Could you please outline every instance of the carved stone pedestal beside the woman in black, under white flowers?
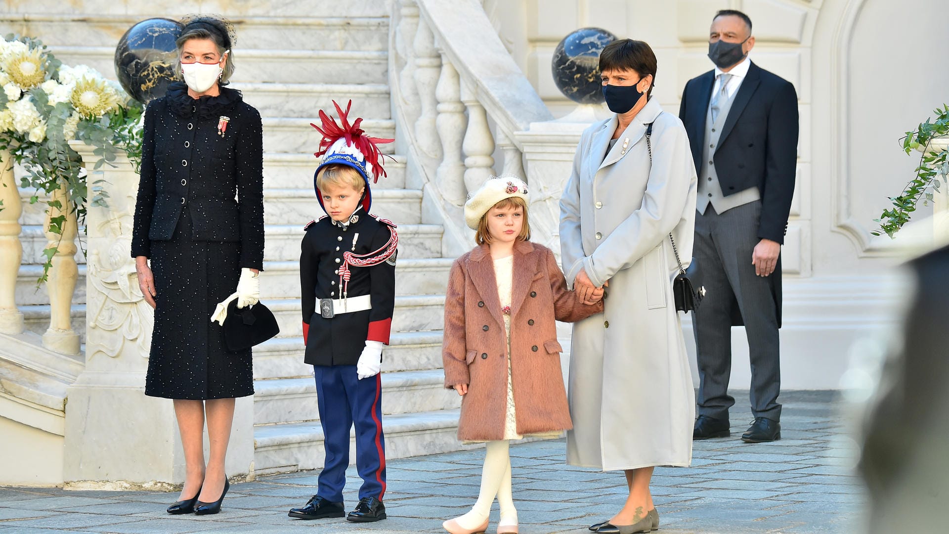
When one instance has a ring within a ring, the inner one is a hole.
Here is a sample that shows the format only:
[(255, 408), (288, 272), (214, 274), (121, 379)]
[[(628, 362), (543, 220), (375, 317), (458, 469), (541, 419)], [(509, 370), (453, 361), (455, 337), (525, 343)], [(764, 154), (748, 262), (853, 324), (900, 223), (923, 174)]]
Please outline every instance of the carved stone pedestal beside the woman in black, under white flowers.
[[(184, 481), (184, 456), (172, 401), (144, 394), (154, 315), (129, 256), (139, 177), (123, 157), (93, 171), (92, 147), (70, 145), (83, 156), (89, 189), (102, 181), (109, 198), (107, 207), (89, 205), (85, 220), (86, 359), (66, 391), (65, 484), (170, 488)], [(228, 475), (241, 480), (253, 473), (252, 403), (237, 399), (228, 449)]]

